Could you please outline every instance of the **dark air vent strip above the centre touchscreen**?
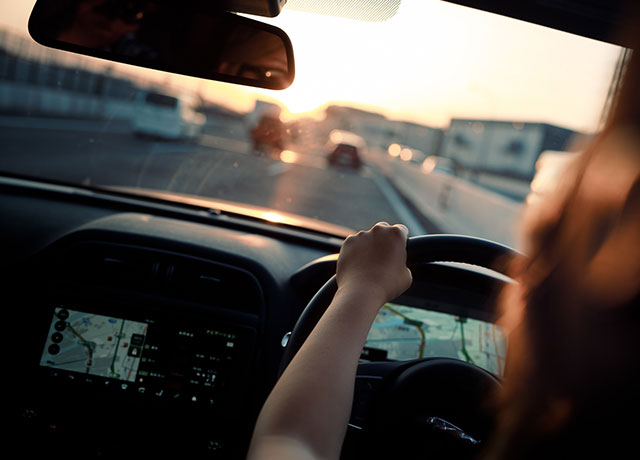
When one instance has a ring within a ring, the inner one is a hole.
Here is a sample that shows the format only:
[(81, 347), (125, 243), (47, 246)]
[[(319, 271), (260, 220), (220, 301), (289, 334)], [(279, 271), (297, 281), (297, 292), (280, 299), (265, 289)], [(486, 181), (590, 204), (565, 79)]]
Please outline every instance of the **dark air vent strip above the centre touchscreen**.
[(161, 295), (259, 314), (260, 286), (249, 272), (183, 254), (102, 242), (78, 243), (61, 257), (58, 276), (85, 285)]

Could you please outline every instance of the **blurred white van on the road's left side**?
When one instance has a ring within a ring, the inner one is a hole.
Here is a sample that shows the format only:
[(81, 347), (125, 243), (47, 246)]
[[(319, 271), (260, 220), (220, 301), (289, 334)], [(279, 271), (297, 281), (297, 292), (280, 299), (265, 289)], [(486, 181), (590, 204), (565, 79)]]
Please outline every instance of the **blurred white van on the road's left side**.
[(132, 120), (134, 134), (162, 139), (195, 139), (206, 117), (186, 99), (156, 91), (140, 91)]

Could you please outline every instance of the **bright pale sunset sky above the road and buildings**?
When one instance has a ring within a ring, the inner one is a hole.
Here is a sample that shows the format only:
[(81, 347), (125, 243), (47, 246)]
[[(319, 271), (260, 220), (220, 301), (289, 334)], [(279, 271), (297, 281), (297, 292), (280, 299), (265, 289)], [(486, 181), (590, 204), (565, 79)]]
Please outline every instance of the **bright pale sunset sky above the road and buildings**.
[[(26, 31), (34, 0), (2, 0), (0, 25)], [(452, 117), (542, 121), (593, 132), (620, 48), (437, 0), (403, 0), (384, 22), (285, 10), (258, 18), (290, 36), (296, 80), (283, 91), (187, 77), (174, 81), (249, 110), (256, 97), (285, 115), (329, 103), (446, 127)]]

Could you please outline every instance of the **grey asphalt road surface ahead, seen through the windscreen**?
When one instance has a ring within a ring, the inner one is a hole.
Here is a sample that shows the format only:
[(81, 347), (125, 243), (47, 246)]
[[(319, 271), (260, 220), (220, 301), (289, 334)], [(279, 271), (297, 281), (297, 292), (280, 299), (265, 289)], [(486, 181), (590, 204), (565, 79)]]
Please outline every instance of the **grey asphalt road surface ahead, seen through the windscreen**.
[(373, 167), (336, 169), (323, 152), (259, 156), (245, 133), (240, 120), (220, 119), (198, 141), (161, 141), (134, 136), (124, 122), (0, 115), (0, 171), (211, 197), (353, 229), (404, 222), (421, 232)]

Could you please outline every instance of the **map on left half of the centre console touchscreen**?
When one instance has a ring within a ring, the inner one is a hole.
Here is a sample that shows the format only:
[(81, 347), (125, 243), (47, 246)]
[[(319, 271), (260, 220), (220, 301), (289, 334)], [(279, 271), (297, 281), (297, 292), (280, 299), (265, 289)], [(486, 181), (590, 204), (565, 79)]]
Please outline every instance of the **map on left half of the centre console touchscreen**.
[(148, 324), (56, 308), (40, 365), (133, 381)]

